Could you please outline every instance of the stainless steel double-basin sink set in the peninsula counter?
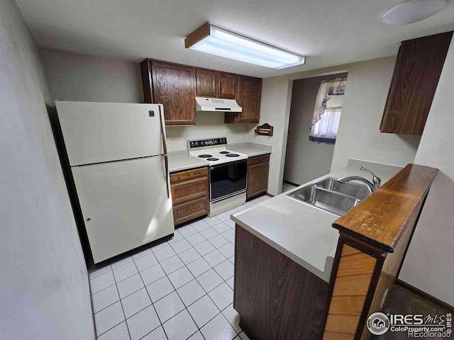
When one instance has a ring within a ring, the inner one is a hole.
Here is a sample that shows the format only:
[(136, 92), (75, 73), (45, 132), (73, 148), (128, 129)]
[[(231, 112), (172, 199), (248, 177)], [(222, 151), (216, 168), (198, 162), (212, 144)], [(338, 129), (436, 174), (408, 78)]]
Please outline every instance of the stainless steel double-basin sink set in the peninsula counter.
[(369, 195), (369, 188), (365, 184), (339, 183), (333, 177), (287, 194), (289, 198), (338, 216), (348, 212)]

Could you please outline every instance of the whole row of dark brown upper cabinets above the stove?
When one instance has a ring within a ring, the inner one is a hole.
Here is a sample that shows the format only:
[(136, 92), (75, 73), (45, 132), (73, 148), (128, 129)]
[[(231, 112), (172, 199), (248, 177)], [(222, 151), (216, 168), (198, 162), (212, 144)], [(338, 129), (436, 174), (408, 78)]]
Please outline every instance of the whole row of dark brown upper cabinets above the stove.
[(260, 78), (150, 59), (140, 71), (145, 103), (164, 105), (165, 125), (195, 125), (196, 96), (236, 99), (243, 112), (226, 113), (225, 123), (259, 122)]

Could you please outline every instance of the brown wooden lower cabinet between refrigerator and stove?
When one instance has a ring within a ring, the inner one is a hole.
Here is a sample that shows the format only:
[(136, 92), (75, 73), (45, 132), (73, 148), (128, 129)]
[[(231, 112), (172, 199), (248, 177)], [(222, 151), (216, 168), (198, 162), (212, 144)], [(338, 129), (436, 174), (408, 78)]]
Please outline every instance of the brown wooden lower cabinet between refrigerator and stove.
[(209, 212), (208, 167), (170, 174), (173, 220), (175, 225), (194, 220)]

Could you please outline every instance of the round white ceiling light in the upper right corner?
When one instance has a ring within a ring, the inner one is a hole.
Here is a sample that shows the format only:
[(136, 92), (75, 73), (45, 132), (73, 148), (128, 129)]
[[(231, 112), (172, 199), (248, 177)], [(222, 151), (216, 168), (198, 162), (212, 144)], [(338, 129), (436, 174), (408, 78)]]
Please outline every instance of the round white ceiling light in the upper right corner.
[(448, 0), (407, 0), (384, 13), (383, 22), (391, 25), (416, 23), (441, 11)]

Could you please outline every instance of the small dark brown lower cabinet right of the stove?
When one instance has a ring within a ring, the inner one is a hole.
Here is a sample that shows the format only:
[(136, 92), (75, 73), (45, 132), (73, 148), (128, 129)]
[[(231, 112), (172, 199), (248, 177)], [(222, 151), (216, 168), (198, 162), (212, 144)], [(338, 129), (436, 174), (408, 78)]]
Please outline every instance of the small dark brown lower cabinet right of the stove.
[(270, 154), (250, 157), (248, 163), (248, 192), (246, 198), (258, 196), (268, 190)]

